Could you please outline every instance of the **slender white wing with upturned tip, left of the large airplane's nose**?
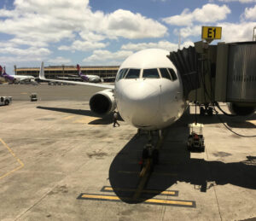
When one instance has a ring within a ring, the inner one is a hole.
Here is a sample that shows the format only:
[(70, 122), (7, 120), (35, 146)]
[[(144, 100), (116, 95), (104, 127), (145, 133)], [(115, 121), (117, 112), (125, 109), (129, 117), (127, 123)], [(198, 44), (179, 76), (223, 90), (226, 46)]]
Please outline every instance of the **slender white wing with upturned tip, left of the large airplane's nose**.
[(45, 76), (44, 76), (44, 62), (42, 62), (42, 65), (41, 65), (41, 69), (40, 69), (40, 73), (39, 73), (39, 79), (47, 80), (47, 81), (52, 81), (52, 82), (60, 82), (60, 83), (68, 83), (68, 84), (80, 84), (80, 85), (88, 85), (88, 86), (92, 86), (92, 87), (114, 89), (114, 85), (113, 84), (94, 84), (94, 83), (81, 82), (81, 81), (45, 79)]

